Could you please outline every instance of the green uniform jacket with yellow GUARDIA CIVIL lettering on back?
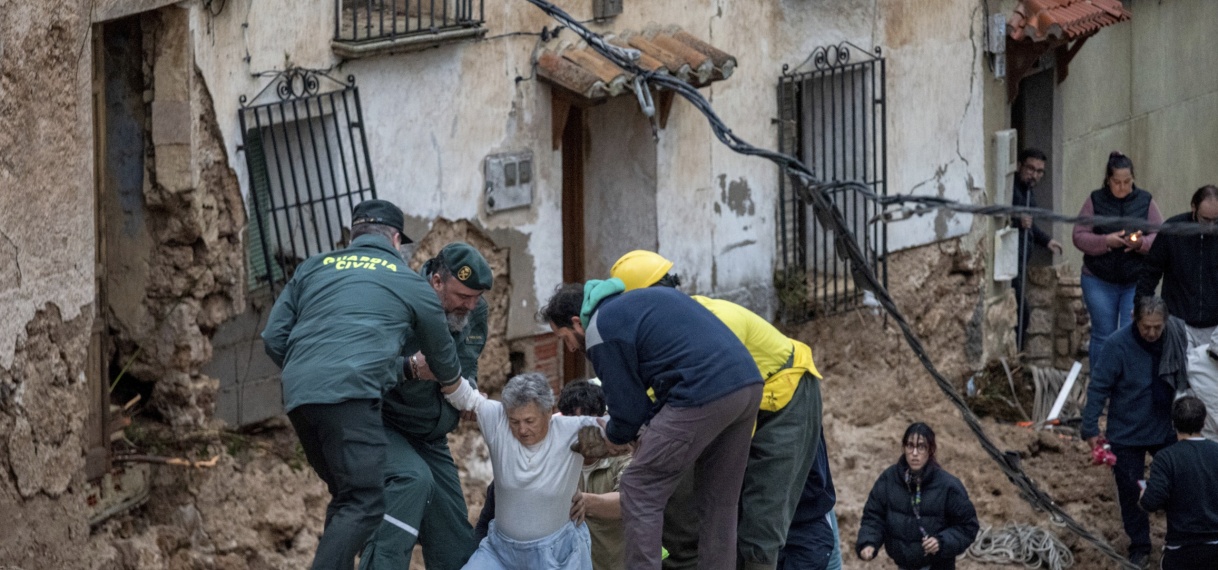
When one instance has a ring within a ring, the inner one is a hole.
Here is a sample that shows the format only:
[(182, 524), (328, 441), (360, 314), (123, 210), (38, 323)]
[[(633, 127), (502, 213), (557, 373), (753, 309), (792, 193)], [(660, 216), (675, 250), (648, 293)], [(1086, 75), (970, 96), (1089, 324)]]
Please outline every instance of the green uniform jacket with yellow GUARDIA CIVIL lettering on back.
[(379, 235), (362, 235), (296, 268), (262, 340), (284, 370), (285, 412), (380, 398), (402, 376), (408, 340), (421, 347), (437, 378), (460, 378), (435, 291)]

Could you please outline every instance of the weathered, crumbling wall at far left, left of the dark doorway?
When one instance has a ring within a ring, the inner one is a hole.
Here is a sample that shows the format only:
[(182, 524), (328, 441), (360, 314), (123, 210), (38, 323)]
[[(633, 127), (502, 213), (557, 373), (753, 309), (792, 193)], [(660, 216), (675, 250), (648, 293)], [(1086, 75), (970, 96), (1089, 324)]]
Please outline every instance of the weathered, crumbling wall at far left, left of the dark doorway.
[(88, 2), (0, 0), (0, 566), (71, 568), (93, 324)]

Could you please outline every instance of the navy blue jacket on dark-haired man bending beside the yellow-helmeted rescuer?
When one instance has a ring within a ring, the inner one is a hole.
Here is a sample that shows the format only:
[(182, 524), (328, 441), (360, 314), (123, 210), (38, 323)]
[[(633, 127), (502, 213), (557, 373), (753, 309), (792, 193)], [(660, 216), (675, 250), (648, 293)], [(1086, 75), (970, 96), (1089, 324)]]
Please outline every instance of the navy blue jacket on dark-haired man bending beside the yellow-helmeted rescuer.
[[(663, 406), (694, 407), (761, 384), (749, 351), (688, 295), (648, 287), (600, 301), (585, 330), (614, 443), (635, 440)], [(655, 392), (655, 402), (647, 390)]]

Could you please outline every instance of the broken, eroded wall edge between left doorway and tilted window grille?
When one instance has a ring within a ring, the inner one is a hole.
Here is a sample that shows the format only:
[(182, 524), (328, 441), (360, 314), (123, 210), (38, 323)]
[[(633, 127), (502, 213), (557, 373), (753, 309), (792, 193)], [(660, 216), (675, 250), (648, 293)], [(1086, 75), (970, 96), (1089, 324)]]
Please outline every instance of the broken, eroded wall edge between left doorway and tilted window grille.
[[(116, 319), (116, 358), (128, 374), (155, 382), (151, 406), (171, 425), (211, 419), (218, 382), (200, 371), (212, 357), (209, 335), (245, 306), (241, 231), (245, 207), (228, 164), (207, 85), (194, 65), (188, 10), (143, 16), (146, 151), (145, 219), (151, 251), (136, 311)], [(122, 279), (122, 276), (117, 276)], [(112, 311), (124, 309), (111, 306)]]

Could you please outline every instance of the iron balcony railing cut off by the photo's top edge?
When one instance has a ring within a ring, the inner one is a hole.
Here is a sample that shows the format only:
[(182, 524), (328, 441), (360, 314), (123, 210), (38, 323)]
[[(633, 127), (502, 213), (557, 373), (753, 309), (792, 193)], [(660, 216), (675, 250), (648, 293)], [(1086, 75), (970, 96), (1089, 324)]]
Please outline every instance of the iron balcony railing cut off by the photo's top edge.
[(335, 0), (334, 40), (361, 44), (481, 28), (485, 0)]

